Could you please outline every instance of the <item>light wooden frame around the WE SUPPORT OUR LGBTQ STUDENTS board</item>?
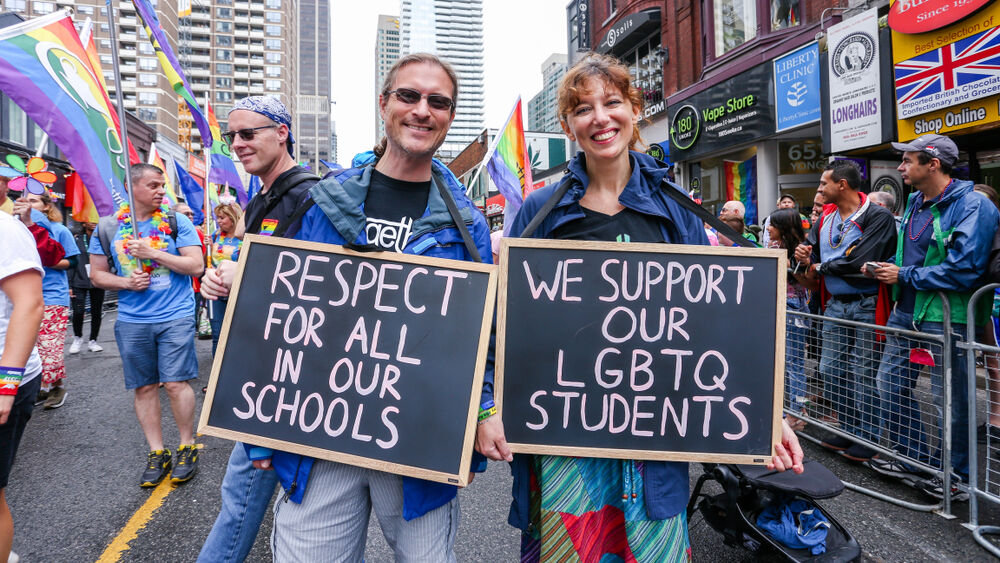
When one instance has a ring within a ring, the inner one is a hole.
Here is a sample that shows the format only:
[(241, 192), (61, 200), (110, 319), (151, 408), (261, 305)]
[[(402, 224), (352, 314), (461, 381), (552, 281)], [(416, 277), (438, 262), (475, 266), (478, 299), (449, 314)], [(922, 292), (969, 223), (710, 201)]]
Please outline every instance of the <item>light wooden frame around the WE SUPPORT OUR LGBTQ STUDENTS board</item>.
[(785, 302), (786, 302), (786, 272), (788, 257), (784, 250), (764, 248), (738, 248), (721, 246), (675, 245), (655, 243), (618, 243), (603, 241), (570, 241), (555, 239), (504, 238), (500, 246), (500, 287), (497, 301), (497, 343), (496, 372), (494, 383), (494, 401), (497, 406), (497, 416), (503, 417), (504, 403), (504, 363), (507, 348), (507, 290), (510, 271), (510, 249), (544, 248), (565, 249), (574, 251), (602, 251), (621, 253), (656, 253), (656, 254), (686, 254), (705, 256), (747, 256), (773, 259), (777, 269), (777, 287), (775, 307), (775, 362), (774, 362), (774, 393), (772, 397), (771, 416), (771, 451), (768, 455), (761, 454), (728, 454), (702, 453), (660, 450), (635, 450), (618, 448), (570, 447), (563, 445), (527, 444), (508, 442), (511, 451), (527, 454), (547, 454), (573, 457), (599, 457), (614, 459), (641, 459), (656, 461), (687, 461), (710, 463), (737, 463), (765, 465), (770, 463), (774, 455), (775, 445), (781, 443), (782, 403), (784, 399), (785, 375)]

